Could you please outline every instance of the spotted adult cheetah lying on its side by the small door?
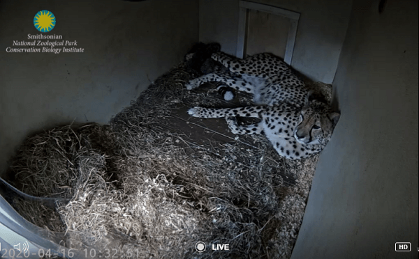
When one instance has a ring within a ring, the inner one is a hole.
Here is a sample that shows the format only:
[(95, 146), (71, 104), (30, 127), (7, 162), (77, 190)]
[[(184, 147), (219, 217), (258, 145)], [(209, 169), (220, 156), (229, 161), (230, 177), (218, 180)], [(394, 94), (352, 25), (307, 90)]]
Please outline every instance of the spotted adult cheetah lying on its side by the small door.
[[(210, 73), (186, 84), (191, 90), (217, 81), (253, 95), (256, 106), (228, 109), (193, 107), (188, 113), (198, 118), (226, 118), (233, 134), (265, 134), (275, 150), (287, 159), (303, 159), (321, 152), (332, 135), (340, 113), (297, 77), (284, 61), (272, 54), (240, 59), (223, 52), (213, 53), (214, 61), (228, 73)], [(239, 125), (237, 117), (259, 118), (260, 123)]]

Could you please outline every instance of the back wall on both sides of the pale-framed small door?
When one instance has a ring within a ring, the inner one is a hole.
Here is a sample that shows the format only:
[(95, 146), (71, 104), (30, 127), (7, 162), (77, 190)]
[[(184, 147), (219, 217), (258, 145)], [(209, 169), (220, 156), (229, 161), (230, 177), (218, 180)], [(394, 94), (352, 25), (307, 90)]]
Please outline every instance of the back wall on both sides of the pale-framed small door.
[[(352, 0), (252, 0), (300, 13), (291, 65), (305, 76), (331, 84), (344, 42)], [(200, 41), (221, 43), (235, 55), (239, 0), (200, 0)]]

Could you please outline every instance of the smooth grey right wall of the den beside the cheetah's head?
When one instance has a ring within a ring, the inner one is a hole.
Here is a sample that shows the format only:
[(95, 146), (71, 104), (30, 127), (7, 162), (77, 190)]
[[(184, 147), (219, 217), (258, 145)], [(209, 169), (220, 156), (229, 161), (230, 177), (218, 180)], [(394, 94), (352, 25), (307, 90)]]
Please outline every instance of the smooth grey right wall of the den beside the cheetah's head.
[[(418, 258), (418, 1), (356, 0), (292, 259)], [(395, 242), (411, 242), (396, 253)]]

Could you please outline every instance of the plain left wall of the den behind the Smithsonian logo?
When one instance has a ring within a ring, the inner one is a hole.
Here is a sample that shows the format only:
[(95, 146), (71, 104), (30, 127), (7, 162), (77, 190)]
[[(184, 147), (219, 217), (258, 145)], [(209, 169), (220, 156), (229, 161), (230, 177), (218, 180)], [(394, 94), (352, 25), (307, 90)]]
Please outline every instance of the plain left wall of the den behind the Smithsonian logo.
[[(7, 53), (41, 34), (39, 10), (57, 24), (45, 35), (84, 53)], [(0, 171), (27, 134), (75, 122), (107, 123), (198, 41), (198, 1), (0, 2)]]

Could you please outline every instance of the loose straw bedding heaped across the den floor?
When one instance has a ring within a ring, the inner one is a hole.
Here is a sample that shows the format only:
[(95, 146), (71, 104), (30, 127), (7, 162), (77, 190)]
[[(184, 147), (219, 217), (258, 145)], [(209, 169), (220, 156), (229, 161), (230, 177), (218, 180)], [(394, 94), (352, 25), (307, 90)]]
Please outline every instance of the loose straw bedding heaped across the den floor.
[[(71, 201), (53, 210), (14, 198), (13, 206), (38, 226), (78, 234), (68, 237), (72, 247), (117, 249), (121, 258), (289, 258), (317, 157), (286, 161), (263, 136), (253, 137), (258, 149), (238, 141), (211, 148), (168, 132), (177, 104), (221, 102), (186, 91), (188, 80), (182, 63), (109, 125), (30, 136), (10, 164), (10, 182), (33, 196)], [(205, 252), (196, 251), (198, 241)]]

